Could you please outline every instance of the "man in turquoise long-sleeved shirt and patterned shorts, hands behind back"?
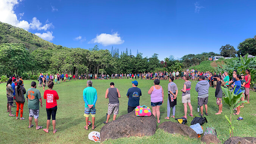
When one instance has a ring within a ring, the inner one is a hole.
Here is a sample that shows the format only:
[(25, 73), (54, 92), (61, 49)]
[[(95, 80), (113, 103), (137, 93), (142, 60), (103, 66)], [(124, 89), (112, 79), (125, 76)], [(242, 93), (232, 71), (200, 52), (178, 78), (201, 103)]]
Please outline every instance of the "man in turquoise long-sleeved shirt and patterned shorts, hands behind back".
[(84, 129), (88, 130), (88, 121), (89, 121), (89, 114), (91, 113), (92, 115), (92, 130), (95, 129), (95, 114), (96, 114), (96, 109), (95, 109), (95, 103), (97, 101), (97, 90), (92, 87), (92, 81), (89, 80), (87, 81), (87, 88), (84, 88), (83, 91), (83, 98), (85, 102), (84, 106), (84, 116), (86, 125), (84, 126)]

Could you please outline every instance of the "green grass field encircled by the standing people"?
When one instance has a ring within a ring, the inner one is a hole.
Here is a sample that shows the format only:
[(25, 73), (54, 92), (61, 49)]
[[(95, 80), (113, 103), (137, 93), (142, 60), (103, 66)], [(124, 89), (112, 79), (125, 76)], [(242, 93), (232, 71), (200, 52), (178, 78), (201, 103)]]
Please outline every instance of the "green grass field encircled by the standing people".
[[(127, 102), (128, 98), (126, 93), (128, 88), (130, 88), (132, 80), (118, 79), (118, 80), (93, 80), (93, 87), (97, 89), (98, 100), (96, 102), (96, 120), (95, 125), (97, 126), (95, 131), (100, 132), (101, 127), (103, 127), (103, 121), (106, 121), (106, 113), (108, 110), (108, 99), (105, 99), (105, 91), (109, 88), (109, 83), (114, 82), (116, 88), (119, 88), (121, 93), (120, 109), (119, 115), (124, 115), (127, 113)], [(150, 95), (147, 93), (149, 88), (153, 85), (151, 80), (138, 80), (138, 87), (142, 91), (142, 96), (140, 97), (140, 105), (147, 105), (150, 107)], [(181, 92), (180, 89), (183, 87), (183, 80), (174, 81), (179, 89), (176, 105), (176, 118), (182, 117), (184, 115), (183, 104), (181, 103)], [(26, 90), (30, 88), (31, 81), (24, 81)], [(160, 85), (164, 88), (164, 103), (160, 107), (161, 112), (161, 123), (164, 121), (176, 122), (175, 119), (170, 118), (170, 120), (164, 119), (167, 115), (167, 84), (168, 81), (161, 81)], [(38, 82), (37, 82), (38, 85)], [(191, 89), (191, 103), (193, 106), (193, 115), (198, 116), (197, 112), (197, 92), (195, 91), (196, 82), (192, 82)], [(56, 129), (57, 133), (53, 134), (52, 125), (50, 125), (49, 133), (45, 133), (42, 129), (36, 130), (34, 126), (32, 129), (28, 129), (28, 108), (27, 101), (24, 105), (23, 117), (25, 120), (16, 120), (16, 117), (9, 117), (6, 113), (6, 84), (0, 84), (0, 143), (86, 143), (92, 144), (93, 141), (88, 139), (88, 134), (92, 131), (91, 127), (89, 130), (84, 129), (85, 117), (84, 114), (84, 101), (83, 101), (83, 89), (86, 87), (86, 81), (70, 81), (62, 82), (61, 84), (55, 84), (53, 90), (56, 90), (59, 94), (58, 111), (56, 115)], [(42, 88), (37, 88), (41, 91), (43, 95), (44, 91)], [(223, 103), (223, 113), (221, 115), (214, 115), (218, 107), (215, 100), (215, 89), (209, 88), (209, 101), (208, 101), (208, 113), (206, 116), (208, 123), (203, 124), (203, 129), (206, 127), (214, 127), (219, 135), (219, 140), (222, 143), (229, 138), (228, 133), (228, 122), (224, 115), (229, 116), (229, 107)], [(251, 115), (256, 113), (256, 93), (250, 91), (250, 104), (245, 104), (245, 107), (241, 110), (240, 116), (244, 118), (242, 121), (237, 121), (239, 116), (232, 116), (232, 122), (235, 127), (234, 136), (246, 137), (253, 136), (256, 137), (256, 117)], [(151, 107), (150, 107), (151, 108)], [(12, 108), (12, 114), (15, 115), (16, 108)], [(188, 110), (189, 113), (189, 110)], [(172, 115), (172, 112), (171, 112)], [(188, 126), (193, 118), (188, 117)], [(45, 100), (43, 99), (43, 107), (40, 108), (39, 113), (39, 125), (46, 128), (46, 110), (45, 110)], [(89, 118), (91, 121), (91, 116)], [(112, 116), (109, 121), (112, 121)], [(34, 124), (34, 120), (33, 123)], [(159, 125), (159, 124), (158, 124)], [(157, 129), (156, 134), (153, 136), (145, 137), (130, 137), (130, 138), (119, 138), (115, 140), (105, 141), (105, 144), (119, 144), (119, 143), (200, 143), (200, 139), (190, 139), (189, 137), (184, 137), (178, 134), (165, 133), (163, 130)]]

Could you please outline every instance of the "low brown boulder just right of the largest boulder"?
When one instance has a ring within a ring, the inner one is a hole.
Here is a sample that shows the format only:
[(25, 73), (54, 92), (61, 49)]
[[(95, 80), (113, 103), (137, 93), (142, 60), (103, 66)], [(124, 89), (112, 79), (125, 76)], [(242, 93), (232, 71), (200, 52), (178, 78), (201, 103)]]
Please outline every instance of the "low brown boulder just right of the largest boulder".
[(197, 138), (197, 133), (193, 129), (177, 122), (165, 121), (158, 127), (168, 133), (180, 133), (183, 136), (189, 136), (189, 138)]

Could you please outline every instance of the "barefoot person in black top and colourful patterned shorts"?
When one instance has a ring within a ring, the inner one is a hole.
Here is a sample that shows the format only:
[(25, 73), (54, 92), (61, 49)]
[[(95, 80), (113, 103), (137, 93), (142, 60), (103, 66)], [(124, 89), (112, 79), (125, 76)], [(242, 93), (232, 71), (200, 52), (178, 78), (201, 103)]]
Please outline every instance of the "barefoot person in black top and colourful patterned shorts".
[(219, 106), (219, 111), (215, 115), (220, 115), (222, 113), (222, 89), (221, 89), (221, 76), (217, 76), (217, 86), (215, 90), (216, 104)]

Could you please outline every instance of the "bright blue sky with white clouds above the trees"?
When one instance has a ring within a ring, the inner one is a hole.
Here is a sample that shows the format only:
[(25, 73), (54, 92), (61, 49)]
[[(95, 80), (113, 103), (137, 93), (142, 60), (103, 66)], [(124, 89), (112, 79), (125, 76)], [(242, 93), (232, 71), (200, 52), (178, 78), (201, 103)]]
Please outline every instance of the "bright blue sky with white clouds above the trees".
[[(1, 6), (2, 5), (2, 6)], [(255, 0), (1, 0), (0, 21), (69, 48), (143, 57), (213, 51), (256, 35)]]

